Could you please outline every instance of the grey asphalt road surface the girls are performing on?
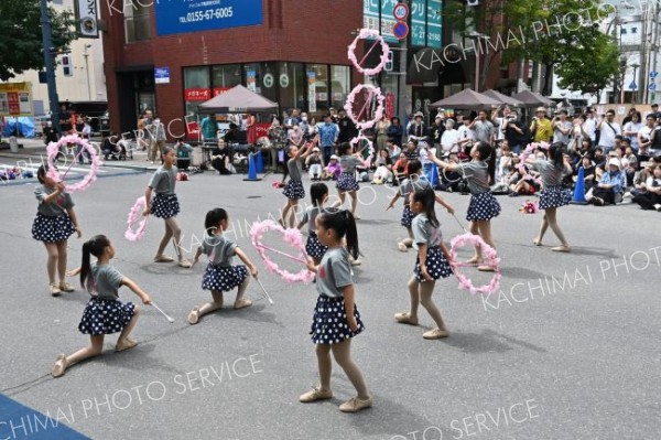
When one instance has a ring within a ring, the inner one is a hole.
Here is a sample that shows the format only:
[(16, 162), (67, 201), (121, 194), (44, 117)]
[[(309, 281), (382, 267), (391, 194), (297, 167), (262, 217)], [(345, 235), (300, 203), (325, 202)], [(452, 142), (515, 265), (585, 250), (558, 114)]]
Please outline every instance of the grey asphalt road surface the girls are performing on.
[[(115, 353), (116, 335), (107, 336), (102, 356), (71, 367), (57, 379), (50, 376), (55, 356), (89, 342), (77, 330), (88, 294), (78, 288), (50, 297), (46, 254), (31, 237), (34, 183), (0, 186), (0, 439), (661, 436), (657, 212), (630, 204), (563, 207), (560, 222), (573, 248), (564, 255), (550, 250), (557, 244), (551, 234), (545, 246), (532, 245), (541, 214), (519, 213), (524, 198), (499, 197), (503, 210), (492, 230), (501, 258), (500, 290), (472, 296), (458, 289), (454, 277), (437, 282), (434, 299), (451, 336), (425, 341), (422, 333), (432, 320), (424, 310), (418, 328), (393, 320), (408, 308), (407, 281), (415, 259), (412, 251), (402, 254), (395, 247), (395, 238), (405, 234), (399, 225), (401, 205), (386, 212), (392, 189), (362, 184), (358, 229), (365, 256), (354, 271), (366, 331), (354, 340), (353, 353), (375, 404), (347, 415), (337, 407), (354, 389), (337, 365), (333, 399), (297, 401), (317, 377), (308, 335), (315, 288), (286, 285), (267, 272), (250, 244), (249, 225), (269, 213), (277, 217), (284, 203), (281, 190), (271, 187), (280, 176), (245, 182), (242, 175), (206, 172), (177, 183), (182, 247), (193, 253), (205, 213), (225, 207), (230, 236), (258, 265), (274, 300), (270, 305), (260, 299), (261, 290), (252, 282), (247, 294), (256, 300), (253, 307), (234, 311), (234, 292), (226, 293), (225, 310), (192, 326), (187, 313), (210, 299), (201, 289), (205, 265), (183, 269), (152, 262), (163, 233), (156, 218), (150, 218), (142, 240), (123, 238), (128, 212), (150, 178), (129, 171), (99, 179), (73, 195), (84, 238), (107, 234), (117, 248), (112, 264), (175, 322), (147, 308), (133, 333), (136, 348)], [(468, 196), (443, 196), (465, 225)], [(437, 213), (447, 242), (464, 233), (444, 210)], [(79, 265), (83, 242), (69, 239), (69, 268)], [(460, 256), (467, 258), (469, 249)], [(476, 283), (490, 277), (466, 271)], [(127, 288), (120, 299), (139, 301)], [(56, 422), (47, 422), (48, 415)]]

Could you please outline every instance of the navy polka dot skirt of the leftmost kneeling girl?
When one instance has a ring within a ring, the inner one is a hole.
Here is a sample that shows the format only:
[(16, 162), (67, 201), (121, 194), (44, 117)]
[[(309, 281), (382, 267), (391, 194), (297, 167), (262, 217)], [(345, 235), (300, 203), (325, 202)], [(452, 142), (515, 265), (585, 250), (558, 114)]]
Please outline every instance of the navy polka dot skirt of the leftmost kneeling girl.
[(121, 332), (134, 314), (132, 302), (93, 298), (85, 307), (78, 330), (90, 335)]

